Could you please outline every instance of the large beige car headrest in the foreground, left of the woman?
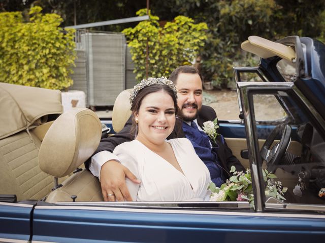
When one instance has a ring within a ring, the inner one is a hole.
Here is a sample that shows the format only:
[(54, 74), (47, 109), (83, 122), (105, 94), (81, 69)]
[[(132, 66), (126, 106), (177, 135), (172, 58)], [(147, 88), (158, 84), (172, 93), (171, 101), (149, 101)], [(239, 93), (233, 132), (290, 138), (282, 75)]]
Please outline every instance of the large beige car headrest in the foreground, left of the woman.
[(42, 171), (64, 177), (77, 169), (98, 147), (101, 121), (87, 108), (73, 108), (61, 114), (45, 134), (39, 152)]

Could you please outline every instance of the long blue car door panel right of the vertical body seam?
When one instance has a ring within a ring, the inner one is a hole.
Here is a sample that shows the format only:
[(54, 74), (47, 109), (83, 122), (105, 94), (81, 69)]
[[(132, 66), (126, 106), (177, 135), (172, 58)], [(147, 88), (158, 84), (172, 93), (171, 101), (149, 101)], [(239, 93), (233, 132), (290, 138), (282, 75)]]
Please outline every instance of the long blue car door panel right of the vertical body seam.
[(33, 228), (33, 240), (53, 242), (320, 242), (325, 221), (317, 215), (40, 206)]

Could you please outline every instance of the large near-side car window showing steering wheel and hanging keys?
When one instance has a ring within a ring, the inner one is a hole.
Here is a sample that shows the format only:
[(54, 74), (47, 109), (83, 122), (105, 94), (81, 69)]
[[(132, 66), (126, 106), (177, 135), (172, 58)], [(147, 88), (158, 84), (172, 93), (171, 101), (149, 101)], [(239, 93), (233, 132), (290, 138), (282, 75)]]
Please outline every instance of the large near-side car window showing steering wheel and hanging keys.
[[(264, 98), (259, 97), (258, 99), (268, 100), (266, 95), (260, 96)], [(275, 101), (278, 100), (275, 99)], [(281, 100), (279, 99), (279, 101)], [(262, 129), (261, 126), (256, 127), (260, 153), (263, 157), (263, 168), (267, 169), (268, 173), (272, 172), (277, 176), (277, 178), (272, 178), (273, 176), (271, 176), (266, 181), (266, 184), (268, 184), (265, 191), (266, 199), (269, 196), (273, 196), (283, 200), (284, 203), (324, 205), (324, 136), (313, 125), (313, 121), (308, 118), (312, 117), (311, 114), (307, 113), (308, 111), (295, 103), (294, 99), (291, 99), (290, 103), (291, 105), (287, 106), (293, 113), (305, 113), (304, 117), (306, 118), (301, 120), (295, 119), (294, 124), (279, 123), (278, 127), (271, 125), (264, 126), (265, 129)], [(254, 104), (254, 110), (257, 107)], [(294, 110), (296, 111), (294, 112)], [(258, 115), (258, 112), (256, 112), (256, 119)], [(283, 136), (281, 137), (286, 125), (289, 126), (288, 131), (291, 130), (286, 137), (287, 139)], [(272, 142), (270, 135), (275, 129), (277, 129), (277, 133), (275, 133), (277, 135)], [(270, 141), (272, 143), (268, 147)], [(282, 155), (281, 151), (283, 151)], [(286, 187), (287, 190), (281, 194), (280, 190), (283, 190), (283, 187)]]

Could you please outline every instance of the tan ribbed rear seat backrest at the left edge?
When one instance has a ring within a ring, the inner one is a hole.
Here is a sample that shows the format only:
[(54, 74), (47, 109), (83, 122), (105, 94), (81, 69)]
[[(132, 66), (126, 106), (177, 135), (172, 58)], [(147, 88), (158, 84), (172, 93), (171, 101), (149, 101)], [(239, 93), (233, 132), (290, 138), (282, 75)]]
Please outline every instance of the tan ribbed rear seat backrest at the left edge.
[(40, 144), (26, 130), (0, 140), (0, 194), (16, 194), (20, 201), (41, 199), (51, 191), (53, 177), (39, 167)]

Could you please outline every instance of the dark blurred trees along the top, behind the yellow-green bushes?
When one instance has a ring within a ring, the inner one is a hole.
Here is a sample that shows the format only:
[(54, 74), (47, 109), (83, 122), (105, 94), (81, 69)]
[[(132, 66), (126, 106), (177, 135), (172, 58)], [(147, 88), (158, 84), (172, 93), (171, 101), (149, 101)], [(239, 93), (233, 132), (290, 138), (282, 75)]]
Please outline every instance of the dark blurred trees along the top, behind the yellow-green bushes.
[[(146, 0), (1, 0), (0, 11), (22, 11), (40, 6), (43, 13), (61, 16), (61, 26), (92, 23), (136, 16), (146, 8)], [(195, 24), (205, 22), (207, 38), (200, 41), (197, 62), (206, 81), (228, 87), (233, 65), (256, 65), (255, 59), (240, 49), (250, 35), (275, 41), (288, 35), (299, 35), (325, 41), (325, 1), (314, 0), (166, 0), (150, 1), (151, 14), (159, 25), (183, 15)], [(122, 31), (138, 23), (97, 27), (95, 30)], [(150, 50), (149, 50), (150, 52)], [(168, 76), (166, 74), (166, 76)]]

